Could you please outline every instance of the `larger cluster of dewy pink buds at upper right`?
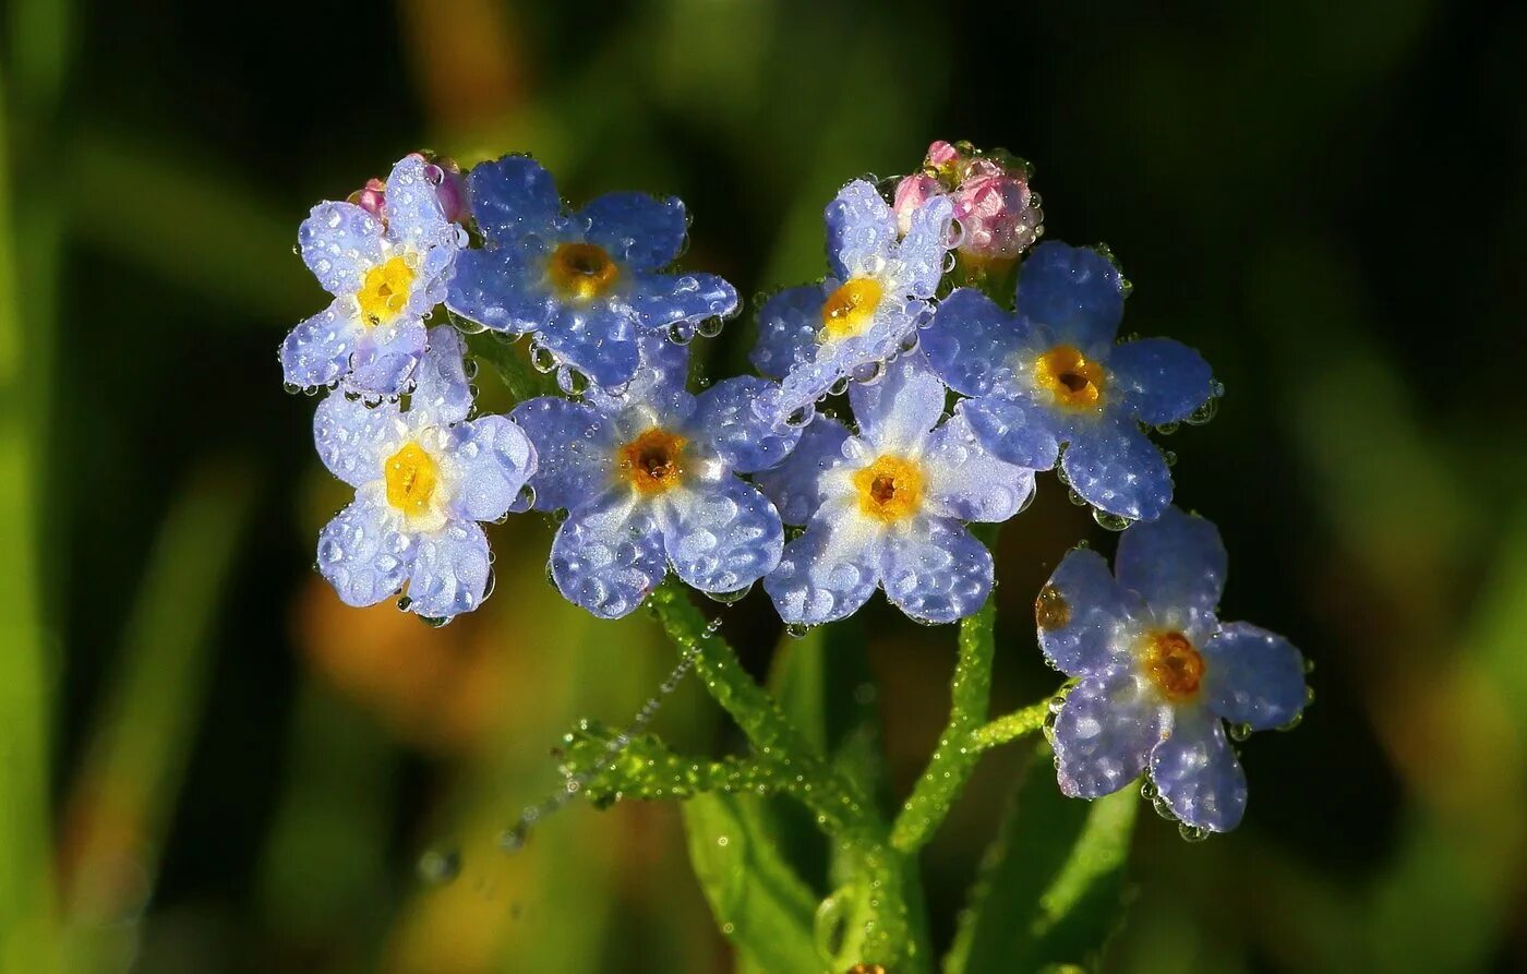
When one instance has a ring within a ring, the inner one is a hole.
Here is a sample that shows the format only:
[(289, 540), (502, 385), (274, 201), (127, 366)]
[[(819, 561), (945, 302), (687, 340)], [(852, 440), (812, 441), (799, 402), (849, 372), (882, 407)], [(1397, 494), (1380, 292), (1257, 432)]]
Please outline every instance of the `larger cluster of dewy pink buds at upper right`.
[(1029, 191), (1029, 165), (970, 142), (935, 142), (921, 173), (896, 185), (896, 220), (906, 234), (912, 214), (931, 197), (948, 195), (964, 234), (960, 260), (973, 269), (1006, 267), (1044, 232), (1040, 197)]

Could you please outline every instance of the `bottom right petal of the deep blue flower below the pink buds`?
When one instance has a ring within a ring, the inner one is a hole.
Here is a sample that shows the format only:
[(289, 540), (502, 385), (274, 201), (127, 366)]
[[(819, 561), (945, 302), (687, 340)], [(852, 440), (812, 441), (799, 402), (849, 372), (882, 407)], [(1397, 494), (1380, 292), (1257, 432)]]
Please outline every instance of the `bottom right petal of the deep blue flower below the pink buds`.
[(1171, 502), (1167, 458), (1133, 421), (1102, 417), (1078, 426), (1061, 466), (1083, 499), (1130, 521), (1153, 521)]

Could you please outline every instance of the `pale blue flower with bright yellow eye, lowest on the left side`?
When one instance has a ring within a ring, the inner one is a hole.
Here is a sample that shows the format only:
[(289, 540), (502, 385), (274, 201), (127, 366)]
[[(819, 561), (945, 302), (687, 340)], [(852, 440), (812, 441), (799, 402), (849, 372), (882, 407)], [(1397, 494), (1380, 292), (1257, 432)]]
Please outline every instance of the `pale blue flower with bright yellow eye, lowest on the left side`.
[(318, 455), (356, 489), (318, 539), (318, 568), (348, 605), (382, 601), (406, 583), (408, 609), (450, 618), (487, 597), (492, 559), (476, 522), (510, 510), (536, 450), (505, 417), (466, 421), (461, 356), (455, 330), (434, 328), (406, 411), (339, 392), (318, 406)]

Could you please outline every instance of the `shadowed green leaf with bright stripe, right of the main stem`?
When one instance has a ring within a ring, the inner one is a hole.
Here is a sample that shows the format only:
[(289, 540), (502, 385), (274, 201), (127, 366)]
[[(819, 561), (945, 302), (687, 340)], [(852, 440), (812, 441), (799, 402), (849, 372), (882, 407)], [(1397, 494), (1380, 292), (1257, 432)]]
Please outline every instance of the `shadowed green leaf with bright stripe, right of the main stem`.
[(1040, 748), (982, 860), (947, 974), (1093, 969), (1122, 921), (1139, 803), (1133, 788), (1090, 803), (1061, 795)]

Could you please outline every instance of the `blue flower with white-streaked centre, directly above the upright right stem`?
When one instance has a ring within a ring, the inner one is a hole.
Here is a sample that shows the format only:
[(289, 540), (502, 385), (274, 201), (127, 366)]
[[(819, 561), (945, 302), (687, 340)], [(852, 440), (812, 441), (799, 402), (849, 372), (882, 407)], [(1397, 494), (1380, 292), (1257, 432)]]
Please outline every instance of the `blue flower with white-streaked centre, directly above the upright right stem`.
[(806, 525), (764, 580), (786, 623), (851, 615), (876, 586), (925, 623), (986, 600), (991, 553), (962, 522), (1019, 513), (1034, 472), (991, 456), (964, 414), (944, 420), (944, 398), (921, 353), (906, 353), (849, 388), (858, 435), (818, 415), (783, 464), (757, 475), (785, 519)]

